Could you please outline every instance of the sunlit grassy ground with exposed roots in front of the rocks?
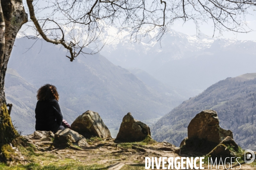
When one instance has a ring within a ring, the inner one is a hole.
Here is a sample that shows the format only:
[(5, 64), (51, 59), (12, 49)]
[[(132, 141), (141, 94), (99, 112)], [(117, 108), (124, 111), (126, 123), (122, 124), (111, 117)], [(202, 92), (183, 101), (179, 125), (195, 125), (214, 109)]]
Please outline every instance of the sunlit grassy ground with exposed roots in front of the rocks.
[[(24, 160), (18, 163), (0, 163), (0, 170), (108, 170), (111, 164), (118, 162), (125, 164), (121, 170), (145, 170), (145, 157), (178, 156), (170, 151), (174, 150), (172, 144), (155, 142), (151, 138), (127, 143), (115, 143), (100, 138), (87, 141), (90, 144), (82, 148), (53, 148), (49, 143), (41, 145), (40, 149), (32, 144), (19, 147)], [(207, 162), (205, 163), (205, 169), (208, 169)], [(256, 161), (250, 165), (243, 164), (241, 169), (256, 170)]]

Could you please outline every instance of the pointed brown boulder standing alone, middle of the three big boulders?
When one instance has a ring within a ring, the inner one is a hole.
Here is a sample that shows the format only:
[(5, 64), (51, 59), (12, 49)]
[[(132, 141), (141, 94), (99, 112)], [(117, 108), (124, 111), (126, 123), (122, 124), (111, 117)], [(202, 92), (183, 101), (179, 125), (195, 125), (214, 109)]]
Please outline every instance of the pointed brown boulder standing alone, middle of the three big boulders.
[(122, 119), (116, 141), (137, 142), (143, 141), (147, 136), (151, 136), (150, 128), (143, 122), (140, 122), (127, 113)]

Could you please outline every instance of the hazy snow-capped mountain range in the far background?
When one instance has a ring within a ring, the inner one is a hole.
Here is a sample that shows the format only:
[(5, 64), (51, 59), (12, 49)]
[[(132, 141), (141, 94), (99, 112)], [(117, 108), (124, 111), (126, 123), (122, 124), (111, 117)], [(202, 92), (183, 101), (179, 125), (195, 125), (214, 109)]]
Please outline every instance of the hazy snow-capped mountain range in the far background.
[(109, 43), (102, 55), (115, 65), (142, 69), (167, 85), (187, 90), (187, 97), (221, 79), (256, 72), (256, 41), (189, 36), (175, 30), (157, 41), (154, 30), (135, 42), (131, 33), (110, 26), (105, 32)]

